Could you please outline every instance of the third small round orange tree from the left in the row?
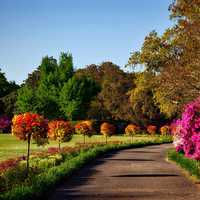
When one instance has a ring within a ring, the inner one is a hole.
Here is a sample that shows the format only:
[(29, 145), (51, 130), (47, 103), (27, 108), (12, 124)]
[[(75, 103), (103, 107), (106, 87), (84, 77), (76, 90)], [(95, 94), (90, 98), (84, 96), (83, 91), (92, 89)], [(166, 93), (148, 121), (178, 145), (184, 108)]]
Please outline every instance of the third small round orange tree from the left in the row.
[(77, 134), (83, 135), (83, 142), (85, 144), (85, 136), (92, 136), (92, 122), (82, 121), (75, 125), (75, 132)]

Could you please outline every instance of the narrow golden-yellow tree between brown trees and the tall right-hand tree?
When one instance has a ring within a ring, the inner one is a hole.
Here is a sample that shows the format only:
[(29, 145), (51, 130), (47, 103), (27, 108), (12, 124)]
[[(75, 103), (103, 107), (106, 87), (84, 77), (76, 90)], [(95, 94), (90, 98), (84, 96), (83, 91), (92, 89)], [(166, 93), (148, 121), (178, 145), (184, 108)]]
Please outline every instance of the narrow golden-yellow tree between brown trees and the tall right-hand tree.
[(154, 103), (154, 78), (151, 72), (138, 73), (135, 79), (136, 87), (130, 91), (130, 101), (133, 107), (133, 119), (136, 124), (146, 126), (149, 123), (163, 123), (164, 116)]

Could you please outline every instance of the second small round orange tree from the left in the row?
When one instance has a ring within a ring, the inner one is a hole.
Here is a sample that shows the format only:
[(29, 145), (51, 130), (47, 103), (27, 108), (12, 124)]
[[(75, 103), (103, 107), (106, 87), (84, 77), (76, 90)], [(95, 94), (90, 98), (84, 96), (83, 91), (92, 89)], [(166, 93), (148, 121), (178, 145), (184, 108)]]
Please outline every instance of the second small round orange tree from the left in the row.
[(48, 137), (58, 141), (60, 149), (61, 142), (68, 142), (72, 139), (74, 128), (70, 122), (64, 120), (53, 120), (48, 123)]

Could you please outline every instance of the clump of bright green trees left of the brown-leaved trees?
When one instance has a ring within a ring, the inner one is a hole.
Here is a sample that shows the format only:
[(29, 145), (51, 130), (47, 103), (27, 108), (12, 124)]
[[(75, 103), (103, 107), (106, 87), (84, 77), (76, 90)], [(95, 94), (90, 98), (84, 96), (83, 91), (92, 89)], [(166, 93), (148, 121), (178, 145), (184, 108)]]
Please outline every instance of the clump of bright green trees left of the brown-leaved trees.
[(71, 54), (61, 53), (59, 63), (44, 57), (18, 92), (17, 112), (37, 112), (49, 119), (83, 117), (99, 87), (90, 78), (73, 75)]

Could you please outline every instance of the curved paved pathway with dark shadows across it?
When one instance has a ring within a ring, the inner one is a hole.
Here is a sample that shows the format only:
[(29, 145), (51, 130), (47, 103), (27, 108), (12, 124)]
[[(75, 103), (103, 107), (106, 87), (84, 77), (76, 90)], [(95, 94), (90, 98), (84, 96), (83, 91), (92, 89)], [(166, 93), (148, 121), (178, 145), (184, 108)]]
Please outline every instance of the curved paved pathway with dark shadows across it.
[(165, 161), (170, 144), (106, 154), (63, 181), (50, 200), (200, 200), (198, 184)]

